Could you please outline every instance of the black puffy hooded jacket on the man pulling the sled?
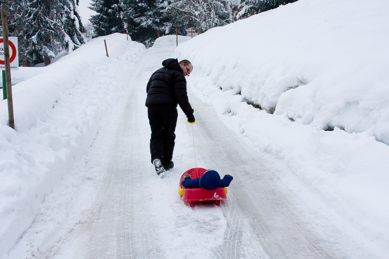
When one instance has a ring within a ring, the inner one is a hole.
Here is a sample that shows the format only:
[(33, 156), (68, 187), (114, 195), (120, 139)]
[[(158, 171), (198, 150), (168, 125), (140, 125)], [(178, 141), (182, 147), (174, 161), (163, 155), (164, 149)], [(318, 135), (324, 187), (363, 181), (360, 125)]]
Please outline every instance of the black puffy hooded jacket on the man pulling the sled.
[(167, 59), (162, 62), (164, 67), (155, 71), (147, 83), (146, 106), (171, 104), (181, 109), (186, 115), (193, 114), (186, 93), (184, 71), (177, 59)]

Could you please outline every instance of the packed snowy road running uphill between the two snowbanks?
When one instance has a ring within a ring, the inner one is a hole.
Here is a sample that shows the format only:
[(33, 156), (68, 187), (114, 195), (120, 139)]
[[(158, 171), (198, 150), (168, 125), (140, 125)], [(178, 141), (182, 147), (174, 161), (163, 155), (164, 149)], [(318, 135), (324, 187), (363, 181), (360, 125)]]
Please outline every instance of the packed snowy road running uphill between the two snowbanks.
[(129, 82), (90, 215), (53, 258), (331, 258), (318, 245), (323, 241), (296, 217), (261, 155), (242, 145), (210, 107), (192, 96), (197, 165), (235, 177), (228, 199), (220, 207), (209, 203), (194, 209), (180, 201), (178, 179), (195, 167), (192, 126), (183, 113), (176, 167), (165, 179), (154, 176), (144, 86), (159, 67), (148, 65), (168, 56), (165, 49), (149, 49), (142, 59), (139, 73)]

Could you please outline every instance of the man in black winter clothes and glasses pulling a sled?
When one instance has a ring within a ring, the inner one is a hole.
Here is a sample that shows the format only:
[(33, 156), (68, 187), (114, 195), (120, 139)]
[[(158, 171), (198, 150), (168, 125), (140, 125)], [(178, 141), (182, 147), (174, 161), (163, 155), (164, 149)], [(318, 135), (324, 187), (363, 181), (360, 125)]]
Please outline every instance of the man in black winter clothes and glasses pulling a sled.
[(146, 106), (150, 127), (150, 152), (155, 171), (161, 177), (166, 170), (173, 167), (175, 128), (177, 124), (177, 104), (187, 116), (189, 123), (194, 123), (193, 109), (186, 93), (186, 76), (193, 70), (192, 64), (183, 60), (167, 59), (163, 67), (155, 71), (147, 83)]

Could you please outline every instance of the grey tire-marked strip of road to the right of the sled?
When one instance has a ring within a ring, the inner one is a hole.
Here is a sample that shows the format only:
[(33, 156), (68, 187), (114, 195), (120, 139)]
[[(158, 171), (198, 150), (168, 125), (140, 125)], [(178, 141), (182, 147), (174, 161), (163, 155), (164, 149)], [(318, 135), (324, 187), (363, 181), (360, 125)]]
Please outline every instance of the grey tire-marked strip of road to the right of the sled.
[[(212, 109), (191, 97), (196, 109), (196, 151), (209, 169), (234, 180), (220, 207), (227, 228), (214, 258), (334, 258), (307, 229), (274, 172), (231, 133)], [(196, 137), (197, 135), (197, 137)], [(199, 150), (199, 151), (198, 151)], [(255, 180), (252, 180), (255, 179)]]

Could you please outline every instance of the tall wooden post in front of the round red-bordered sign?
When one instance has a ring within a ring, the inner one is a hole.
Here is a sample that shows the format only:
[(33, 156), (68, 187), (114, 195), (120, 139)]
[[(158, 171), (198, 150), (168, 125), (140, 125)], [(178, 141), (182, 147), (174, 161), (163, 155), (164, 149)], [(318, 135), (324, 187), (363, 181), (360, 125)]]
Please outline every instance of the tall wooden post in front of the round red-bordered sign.
[(12, 84), (11, 84), (11, 65), (9, 59), (9, 41), (8, 41), (8, 25), (7, 25), (7, 11), (5, 8), (1, 8), (1, 22), (3, 28), (3, 40), (4, 40), (4, 61), (5, 61), (5, 82), (7, 87), (7, 100), (8, 100), (8, 120), (9, 127), (15, 129), (14, 123), (14, 106), (12, 103)]

